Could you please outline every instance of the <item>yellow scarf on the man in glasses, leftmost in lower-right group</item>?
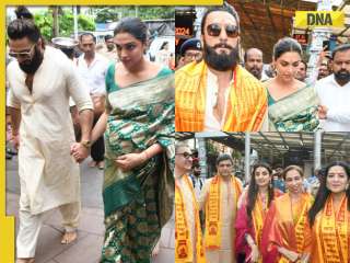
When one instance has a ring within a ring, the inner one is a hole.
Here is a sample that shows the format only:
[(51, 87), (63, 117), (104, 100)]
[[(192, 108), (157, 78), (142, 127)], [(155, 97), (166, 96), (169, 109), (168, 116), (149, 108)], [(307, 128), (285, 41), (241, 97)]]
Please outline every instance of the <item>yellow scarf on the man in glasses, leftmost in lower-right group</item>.
[[(188, 180), (188, 175), (183, 175), (183, 179), (191, 192), (192, 204), (194, 204), (194, 215), (195, 218), (195, 229), (194, 233), (196, 237), (196, 256), (197, 263), (205, 263), (205, 249), (202, 245), (201, 228), (199, 221), (199, 209), (196, 202), (195, 192), (191, 183)], [(179, 188), (178, 182), (175, 181), (175, 263), (190, 263), (195, 262), (192, 244), (190, 241), (189, 226), (186, 218), (186, 208), (184, 203), (184, 196)]]

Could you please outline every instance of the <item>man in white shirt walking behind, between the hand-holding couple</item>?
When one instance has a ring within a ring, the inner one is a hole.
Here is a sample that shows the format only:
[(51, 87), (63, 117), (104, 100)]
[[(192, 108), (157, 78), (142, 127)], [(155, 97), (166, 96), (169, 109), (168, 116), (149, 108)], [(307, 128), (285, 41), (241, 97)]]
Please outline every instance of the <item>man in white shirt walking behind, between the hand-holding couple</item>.
[[(83, 33), (79, 37), (80, 49), (83, 54), (78, 58), (78, 71), (90, 88), (90, 95), (94, 103), (94, 125), (104, 111), (106, 95), (105, 77), (109, 61), (96, 53), (96, 37), (91, 33)], [(104, 168), (105, 147), (103, 136), (91, 147), (92, 161), (90, 167)]]

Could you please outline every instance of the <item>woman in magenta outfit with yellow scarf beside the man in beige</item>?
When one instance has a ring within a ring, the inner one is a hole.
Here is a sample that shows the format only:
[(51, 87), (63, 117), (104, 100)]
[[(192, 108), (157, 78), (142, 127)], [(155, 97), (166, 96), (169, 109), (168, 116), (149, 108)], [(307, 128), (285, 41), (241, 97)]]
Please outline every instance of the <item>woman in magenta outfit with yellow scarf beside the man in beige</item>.
[(245, 262), (262, 263), (260, 253), (264, 219), (275, 196), (282, 192), (273, 191), (272, 169), (260, 162), (254, 165), (248, 190), (238, 202), (236, 217), (236, 255), (245, 254)]

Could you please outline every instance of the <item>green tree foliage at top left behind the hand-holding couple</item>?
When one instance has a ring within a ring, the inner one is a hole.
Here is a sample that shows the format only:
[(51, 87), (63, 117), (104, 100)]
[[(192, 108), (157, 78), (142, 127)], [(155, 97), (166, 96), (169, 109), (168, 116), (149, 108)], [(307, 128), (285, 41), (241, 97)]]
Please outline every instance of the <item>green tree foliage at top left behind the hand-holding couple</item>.
[[(40, 28), (45, 39), (50, 41), (54, 36), (52, 33), (52, 10), (42, 11), (34, 15), (35, 24)], [(62, 10), (59, 18), (59, 36), (71, 36), (74, 33), (73, 14), (71, 10)], [(79, 14), (78, 15), (78, 31), (94, 31), (95, 23), (93, 19)]]

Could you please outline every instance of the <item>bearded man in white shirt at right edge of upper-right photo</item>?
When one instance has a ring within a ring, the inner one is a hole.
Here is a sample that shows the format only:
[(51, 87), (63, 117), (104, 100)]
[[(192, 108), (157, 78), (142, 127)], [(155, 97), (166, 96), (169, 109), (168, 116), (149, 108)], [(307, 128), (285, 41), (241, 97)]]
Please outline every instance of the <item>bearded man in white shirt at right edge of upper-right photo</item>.
[(326, 132), (350, 130), (350, 44), (332, 52), (334, 73), (316, 82), (318, 117)]

